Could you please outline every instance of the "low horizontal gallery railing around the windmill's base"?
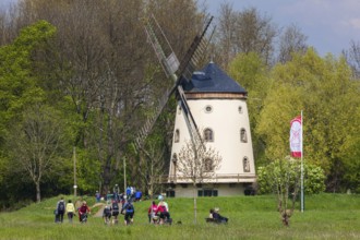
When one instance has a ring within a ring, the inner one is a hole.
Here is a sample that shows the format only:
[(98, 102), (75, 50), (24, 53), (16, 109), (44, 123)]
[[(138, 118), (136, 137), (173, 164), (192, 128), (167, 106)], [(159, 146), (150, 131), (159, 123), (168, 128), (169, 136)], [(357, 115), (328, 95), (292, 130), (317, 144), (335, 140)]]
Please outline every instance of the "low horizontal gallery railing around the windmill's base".
[[(154, 178), (158, 184), (165, 183), (192, 183), (192, 178), (187, 176), (161, 175)], [(256, 180), (253, 173), (218, 173), (209, 177), (202, 177), (202, 183), (241, 183), (254, 182)]]

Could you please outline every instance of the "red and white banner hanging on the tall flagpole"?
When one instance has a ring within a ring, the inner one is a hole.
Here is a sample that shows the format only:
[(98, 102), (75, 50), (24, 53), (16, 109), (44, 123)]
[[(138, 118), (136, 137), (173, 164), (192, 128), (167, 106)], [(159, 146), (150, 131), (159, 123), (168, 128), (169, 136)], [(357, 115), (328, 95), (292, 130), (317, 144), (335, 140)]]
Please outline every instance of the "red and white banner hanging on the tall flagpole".
[(290, 122), (290, 152), (291, 157), (301, 157), (302, 154), (302, 122), (301, 116)]

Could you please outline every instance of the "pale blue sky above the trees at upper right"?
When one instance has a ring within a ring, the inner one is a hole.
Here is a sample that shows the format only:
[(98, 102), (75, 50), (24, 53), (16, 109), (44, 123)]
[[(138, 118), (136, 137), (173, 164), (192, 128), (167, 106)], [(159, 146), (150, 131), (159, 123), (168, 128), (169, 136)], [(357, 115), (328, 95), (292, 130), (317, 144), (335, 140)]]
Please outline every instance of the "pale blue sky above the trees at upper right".
[(216, 17), (220, 4), (228, 2), (233, 11), (255, 8), (271, 16), (278, 27), (296, 24), (308, 36), (308, 45), (321, 56), (335, 56), (360, 43), (360, 0), (204, 0)]

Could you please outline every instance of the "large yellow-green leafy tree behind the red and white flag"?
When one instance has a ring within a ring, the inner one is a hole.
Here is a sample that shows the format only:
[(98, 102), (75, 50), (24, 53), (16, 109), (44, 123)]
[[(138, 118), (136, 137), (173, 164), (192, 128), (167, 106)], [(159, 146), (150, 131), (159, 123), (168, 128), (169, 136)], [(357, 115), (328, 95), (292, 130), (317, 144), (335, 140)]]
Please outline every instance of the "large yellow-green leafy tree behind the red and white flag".
[(265, 141), (266, 157), (288, 155), (289, 122), (303, 110), (305, 160), (325, 170), (327, 190), (341, 190), (345, 173), (358, 169), (358, 161), (352, 167), (346, 163), (356, 159), (360, 135), (359, 83), (351, 80), (345, 59), (321, 58), (309, 49), (277, 64), (271, 77), (255, 130)]

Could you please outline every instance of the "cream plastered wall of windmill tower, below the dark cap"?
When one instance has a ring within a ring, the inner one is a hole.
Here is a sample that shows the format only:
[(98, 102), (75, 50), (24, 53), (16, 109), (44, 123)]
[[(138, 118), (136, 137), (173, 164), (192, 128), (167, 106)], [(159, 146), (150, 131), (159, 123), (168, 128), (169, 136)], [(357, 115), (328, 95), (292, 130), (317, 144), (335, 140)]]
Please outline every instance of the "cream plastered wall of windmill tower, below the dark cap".
[[(206, 144), (216, 148), (223, 157), (221, 166), (216, 171), (217, 176), (228, 176), (226, 179), (216, 179), (217, 182), (253, 182), (255, 179), (255, 165), (253, 157), (250, 122), (245, 99), (190, 99), (188, 100), (191, 112), (201, 131), (206, 128), (213, 130), (214, 142)], [(212, 107), (207, 112), (205, 108)], [(241, 108), (241, 111), (239, 110)], [(240, 141), (240, 129), (247, 131), (247, 143)], [(178, 143), (172, 141), (171, 156), (179, 153), (181, 147), (190, 140), (189, 130), (183, 112), (177, 108), (175, 130), (180, 131)], [(244, 172), (243, 158), (247, 157), (250, 171)], [(172, 169), (170, 161), (170, 171)], [(229, 178), (235, 176), (233, 179)], [(243, 179), (241, 179), (243, 177)], [(240, 179), (239, 179), (240, 178)], [(252, 180), (249, 180), (252, 178)]]

